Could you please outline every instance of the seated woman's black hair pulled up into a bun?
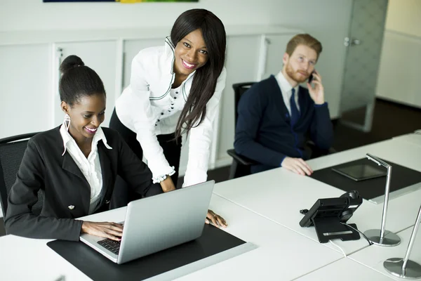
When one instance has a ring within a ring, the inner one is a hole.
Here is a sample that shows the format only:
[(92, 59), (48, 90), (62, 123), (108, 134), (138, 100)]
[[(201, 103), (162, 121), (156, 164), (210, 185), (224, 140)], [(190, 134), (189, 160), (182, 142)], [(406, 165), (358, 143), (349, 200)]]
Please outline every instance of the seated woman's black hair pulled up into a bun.
[(87, 67), (77, 55), (69, 55), (60, 65), (62, 77), (58, 91), (60, 100), (70, 106), (82, 96), (105, 95), (105, 88), (98, 74)]

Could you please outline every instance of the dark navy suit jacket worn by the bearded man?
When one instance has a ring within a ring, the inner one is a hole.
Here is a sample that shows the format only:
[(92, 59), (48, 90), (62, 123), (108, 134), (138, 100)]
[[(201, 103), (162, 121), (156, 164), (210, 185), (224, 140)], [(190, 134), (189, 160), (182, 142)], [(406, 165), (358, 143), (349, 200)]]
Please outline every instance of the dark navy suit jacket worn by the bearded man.
[(254, 84), (238, 105), (234, 148), (237, 153), (259, 162), (252, 172), (281, 166), (285, 157), (309, 159), (305, 141), (328, 150), (333, 143), (333, 126), (328, 104), (316, 105), (303, 87), (298, 90), (300, 119), (293, 126), (278, 81), (271, 75)]

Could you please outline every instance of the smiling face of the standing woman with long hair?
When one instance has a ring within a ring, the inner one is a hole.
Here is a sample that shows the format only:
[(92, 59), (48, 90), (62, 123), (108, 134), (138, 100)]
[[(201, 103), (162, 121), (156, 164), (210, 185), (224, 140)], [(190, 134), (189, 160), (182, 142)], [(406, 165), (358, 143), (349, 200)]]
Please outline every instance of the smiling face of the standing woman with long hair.
[(175, 74), (188, 76), (208, 62), (208, 51), (201, 30), (194, 30), (175, 46)]

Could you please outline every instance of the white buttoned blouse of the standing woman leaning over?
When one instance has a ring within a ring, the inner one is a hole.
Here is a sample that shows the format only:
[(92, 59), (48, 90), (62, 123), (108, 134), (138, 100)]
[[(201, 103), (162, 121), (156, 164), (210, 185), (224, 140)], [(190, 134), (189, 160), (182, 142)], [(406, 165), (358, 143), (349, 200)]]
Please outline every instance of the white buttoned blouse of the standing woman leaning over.
[[(178, 89), (171, 89), (175, 79), (174, 59), (174, 46), (168, 37), (164, 46), (141, 50), (133, 58), (131, 84), (116, 100), (116, 114), (124, 126), (137, 134), (154, 183), (175, 172), (163, 155), (156, 136), (175, 132), (194, 79), (193, 72)], [(213, 120), (218, 112), (226, 76), (224, 67), (215, 93), (206, 105), (203, 122), (189, 132), (189, 160), (184, 186), (201, 183), (208, 177)]]

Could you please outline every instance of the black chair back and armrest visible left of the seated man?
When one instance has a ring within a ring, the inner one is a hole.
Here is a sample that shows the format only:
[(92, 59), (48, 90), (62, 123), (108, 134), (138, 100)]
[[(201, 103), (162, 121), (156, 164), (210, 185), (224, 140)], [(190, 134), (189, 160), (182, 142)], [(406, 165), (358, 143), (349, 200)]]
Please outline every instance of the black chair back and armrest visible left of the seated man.
[[(251, 86), (253, 86), (255, 82), (246, 82), (246, 83), (237, 83), (233, 84), (232, 88), (234, 89), (234, 128), (236, 127), (236, 121), (239, 117), (239, 113), (237, 112), (237, 106), (239, 104), (239, 100), (243, 93), (246, 93)], [(227, 150), (229, 156), (232, 157), (232, 164), (231, 168), (229, 169), (229, 179), (232, 178), (239, 178), (240, 176), (247, 176), (250, 174), (250, 166), (256, 164), (255, 161), (252, 159), (248, 159), (242, 155), (236, 154), (235, 150)]]

